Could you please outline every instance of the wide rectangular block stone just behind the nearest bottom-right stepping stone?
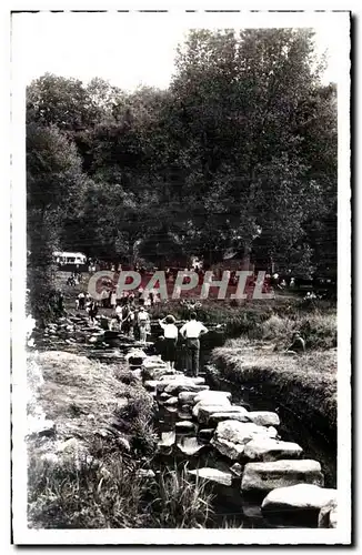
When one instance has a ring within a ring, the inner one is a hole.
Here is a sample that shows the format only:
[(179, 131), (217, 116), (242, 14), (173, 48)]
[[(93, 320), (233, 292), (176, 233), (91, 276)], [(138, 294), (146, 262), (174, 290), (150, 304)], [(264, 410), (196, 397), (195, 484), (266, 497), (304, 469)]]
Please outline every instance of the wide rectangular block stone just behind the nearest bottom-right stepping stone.
[(323, 486), (324, 477), (316, 461), (275, 461), (245, 464), (242, 492), (268, 493), (276, 487), (296, 484)]

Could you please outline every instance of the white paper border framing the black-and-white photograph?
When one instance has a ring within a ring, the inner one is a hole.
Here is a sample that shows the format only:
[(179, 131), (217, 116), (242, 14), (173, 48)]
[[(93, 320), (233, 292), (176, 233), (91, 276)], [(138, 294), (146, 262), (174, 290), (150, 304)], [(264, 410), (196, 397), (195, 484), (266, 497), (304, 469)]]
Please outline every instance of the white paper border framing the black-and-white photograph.
[[(177, 3), (177, 2), (175, 2)], [(239, 9), (235, 3), (222, 3), (222, 8), (215, 2), (205, 2), (207, 9)], [(328, 9), (344, 9), (338, 6), (340, 2), (329, 2)], [(180, 8), (172, 4), (172, 10), (163, 14), (139, 14), (132, 13), (128, 17), (145, 17), (150, 24), (154, 18), (183, 17), (190, 20), (190, 27), (313, 27), (316, 20), (322, 21), (324, 13), (299, 12), (299, 13), (250, 13), (248, 9), (258, 9), (253, 3), (245, 6), (243, 2), (242, 13), (189, 13), (184, 14)], [(123, 2), (99, 2), (99, 1), (13, 1), (12, 9), (101, 9), (118, 8), (128, 9)], [(130, 4), (128, 4), (130, 6)], [(150, 2), (132, 2), (132, 10), (151, 9)], [(168, 9), (169, 3), (155, 2), (153, 9)], [(263, 7), (265, 9), (265, 6)], [(261, 9), (263, 9), (261, 8)], [(268, 4), (269, 8), (269, 4)], [(273, 9), (298, 9), (296, 6), (285, 6), (285, 2), (274, 2)], [(315, 8), (310, 2), (310, 9)], [(197, 9), (195, 2), (183, 3), (182, 10)], [(199, 8), (200, 9), (200, 8)], [(127, 16), (127, 14), (125, 14)], [(328, 14), (335, 19), (340, 18), (345, 36), (349, 34), (349, 14)], [(267, 18), (267, 20), (265, 20)], [(264, 21), (261, 21), (264, 19)], [(159, 19), (158, 19), (159, 20)], [(14, 543), (20, 544), (245, 544), (268, 545), (272, 544), (349, 544), (350, 543), (350, 474), (351, 474), (351, 442), (350, 442), (350, 161), (349, 161), (349, 51), (341, 42), (341, 78), (339, 80), (339, 515), (340, 523), (336, 529), (207, 529), (207, 531), (168, 531), (163, 529), (110, 529), (110, 531), (32, 531), (26, 524), (26, 450), (21, 441), (24, 430), (24, 252), (26, 252), (26, 204), (24, 204), (24, 95), (21, 80), (21, 68), (19, 62), (12, 67), (13, 81), (13, 123), (11, 128), (11, 148), (13, 153), (12, 178), (14, 182), (13, 196), (13, 225), (16, 239), (13, 241), (13, 475), (14, 475)], [(342, 324), (342, 325), (341, 325)]]

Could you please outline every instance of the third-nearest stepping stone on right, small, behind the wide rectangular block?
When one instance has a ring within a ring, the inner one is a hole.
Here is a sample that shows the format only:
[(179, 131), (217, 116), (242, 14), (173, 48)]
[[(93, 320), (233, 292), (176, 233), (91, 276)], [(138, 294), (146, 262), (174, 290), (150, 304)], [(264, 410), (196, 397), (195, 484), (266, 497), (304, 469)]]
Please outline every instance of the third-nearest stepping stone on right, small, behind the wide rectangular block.
[(278, 461), (280, 458), (299, 458), (303, 450), (292, 442), (255, 437), (247, 443), (244, 455), (251, 461)]

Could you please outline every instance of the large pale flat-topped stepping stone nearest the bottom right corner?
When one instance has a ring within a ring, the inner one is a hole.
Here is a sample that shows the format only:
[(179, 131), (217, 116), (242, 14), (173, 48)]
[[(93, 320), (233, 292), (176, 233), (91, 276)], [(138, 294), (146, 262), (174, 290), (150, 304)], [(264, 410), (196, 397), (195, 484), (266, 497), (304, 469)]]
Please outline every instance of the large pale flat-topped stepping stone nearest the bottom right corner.
[(313, 484), (296, 484), (278, 487), (264, 498), (263, 512), (281, 512), (298, 509), (318, 509), (336, 500), (336, 490), (319, 487)]

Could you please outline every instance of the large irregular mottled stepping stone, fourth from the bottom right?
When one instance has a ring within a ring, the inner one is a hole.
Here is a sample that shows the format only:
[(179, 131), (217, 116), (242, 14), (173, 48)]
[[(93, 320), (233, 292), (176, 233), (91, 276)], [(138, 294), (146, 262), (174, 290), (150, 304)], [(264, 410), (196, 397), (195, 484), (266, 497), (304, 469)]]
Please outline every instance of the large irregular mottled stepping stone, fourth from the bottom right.
[(211, 444), (232, 461), (240, 461), (244, 453), (244, 446), (255, 435), (268, 437), (268, 428), (258, 426), (252, 422), (238, 422), (228, 420), (220, 422), (215, 430)]

